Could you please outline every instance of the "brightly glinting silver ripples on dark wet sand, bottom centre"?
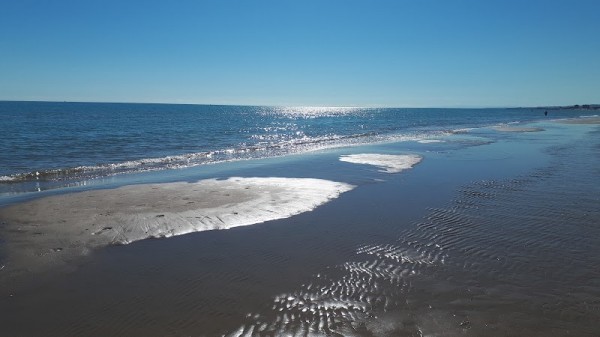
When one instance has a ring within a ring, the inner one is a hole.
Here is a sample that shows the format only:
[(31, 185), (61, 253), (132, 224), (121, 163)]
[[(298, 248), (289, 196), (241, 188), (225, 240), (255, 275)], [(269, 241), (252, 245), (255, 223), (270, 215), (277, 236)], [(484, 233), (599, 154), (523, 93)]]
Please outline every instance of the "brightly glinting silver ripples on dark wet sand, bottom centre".
[(364, 336), (365, 322), (405, 305), (414, 277), (443, 263), (444, 255), (437, 247), (406, 241), (361, 246), (356, 254), (355, 261), (276, 296), (270, 310), (249, 314), (225, 336)]

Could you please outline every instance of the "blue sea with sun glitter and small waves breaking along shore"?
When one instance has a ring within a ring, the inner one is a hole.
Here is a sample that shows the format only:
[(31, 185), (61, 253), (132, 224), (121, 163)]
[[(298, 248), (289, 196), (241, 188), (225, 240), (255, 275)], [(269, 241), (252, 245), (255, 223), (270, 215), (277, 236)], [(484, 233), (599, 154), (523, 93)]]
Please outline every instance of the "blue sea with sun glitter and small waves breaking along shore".
[[(0, 194), (123, 173), (426, 139), (539, 120), (543, 112), (0, 102)], [(585, 114), (589, 111), (550, 112), (552, 118)]]

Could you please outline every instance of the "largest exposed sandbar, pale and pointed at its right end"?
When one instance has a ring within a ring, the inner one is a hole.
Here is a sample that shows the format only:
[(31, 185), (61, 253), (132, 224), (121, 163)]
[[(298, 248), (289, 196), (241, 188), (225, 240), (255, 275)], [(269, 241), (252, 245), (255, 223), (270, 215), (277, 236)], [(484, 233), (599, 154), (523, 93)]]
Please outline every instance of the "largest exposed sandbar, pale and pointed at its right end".
[(321, 179), (229, 178), (58, 195), (0, 209), (2, 237), (13, 264), (35, 268), (111, 244), (287, 218), (353, 187)]

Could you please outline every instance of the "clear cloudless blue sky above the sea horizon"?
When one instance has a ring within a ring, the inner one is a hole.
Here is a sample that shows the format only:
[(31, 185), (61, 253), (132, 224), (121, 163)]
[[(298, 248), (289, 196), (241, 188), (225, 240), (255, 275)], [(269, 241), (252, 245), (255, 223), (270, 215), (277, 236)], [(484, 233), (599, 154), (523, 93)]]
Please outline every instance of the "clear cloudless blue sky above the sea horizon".
[(600, 0), (0, 0), (0, 100), (600, 103)]

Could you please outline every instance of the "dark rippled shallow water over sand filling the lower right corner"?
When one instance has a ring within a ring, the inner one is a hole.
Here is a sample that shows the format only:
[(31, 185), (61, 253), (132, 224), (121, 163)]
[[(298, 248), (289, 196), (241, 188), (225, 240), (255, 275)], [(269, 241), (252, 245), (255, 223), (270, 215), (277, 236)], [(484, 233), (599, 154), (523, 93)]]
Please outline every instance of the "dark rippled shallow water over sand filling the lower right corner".
[(544, 169), (464, 187), (225, 336), (599, 335), (598, 148), (553, 147)]

